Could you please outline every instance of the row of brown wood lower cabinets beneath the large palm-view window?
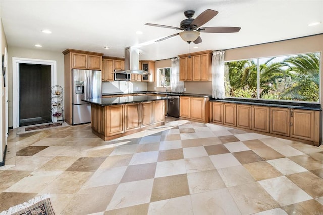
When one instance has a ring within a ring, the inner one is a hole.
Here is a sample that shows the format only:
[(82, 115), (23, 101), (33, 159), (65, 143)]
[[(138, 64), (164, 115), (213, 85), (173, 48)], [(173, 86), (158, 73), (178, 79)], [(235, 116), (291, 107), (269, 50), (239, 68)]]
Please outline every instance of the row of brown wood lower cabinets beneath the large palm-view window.
[(211, 122), (255, 130), (318, 146), (321, 141), (320, 111), (212, 102)]

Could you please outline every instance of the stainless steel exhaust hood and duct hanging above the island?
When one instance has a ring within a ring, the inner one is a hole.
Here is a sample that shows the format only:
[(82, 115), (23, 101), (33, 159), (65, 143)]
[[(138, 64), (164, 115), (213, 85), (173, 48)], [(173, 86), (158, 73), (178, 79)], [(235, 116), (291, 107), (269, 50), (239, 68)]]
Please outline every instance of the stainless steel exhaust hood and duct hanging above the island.
[(148, 71), (139, 69), (139, 48), (125, 48), (125, 71), (115, 71), (115, 73), (148, 75)]

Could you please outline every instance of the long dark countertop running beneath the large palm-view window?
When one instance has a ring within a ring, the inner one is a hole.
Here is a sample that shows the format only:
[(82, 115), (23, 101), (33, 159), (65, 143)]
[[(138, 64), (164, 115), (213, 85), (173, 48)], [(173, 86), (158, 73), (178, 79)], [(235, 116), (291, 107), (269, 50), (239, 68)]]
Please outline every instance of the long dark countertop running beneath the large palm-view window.
[(211, 99), (211, 102), (228, 102), (235, 104), (246, 104), (246, 105), (261, 105), (269, 107), (282, 107), (282, 108), (294, 108), (304, 110), (322, 110), (320, 104), (317, 103), (297, 103), (288, 101), (268, 101), (268, 100), (255, 100), (255, 99)]

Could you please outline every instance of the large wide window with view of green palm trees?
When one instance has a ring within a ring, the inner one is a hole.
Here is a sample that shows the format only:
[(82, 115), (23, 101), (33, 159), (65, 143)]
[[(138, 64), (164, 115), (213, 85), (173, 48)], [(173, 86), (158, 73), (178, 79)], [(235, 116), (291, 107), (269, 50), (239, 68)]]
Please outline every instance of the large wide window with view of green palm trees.
[(319, 65), (319, 52), (226, 62), (226, 96), (318, 102)]

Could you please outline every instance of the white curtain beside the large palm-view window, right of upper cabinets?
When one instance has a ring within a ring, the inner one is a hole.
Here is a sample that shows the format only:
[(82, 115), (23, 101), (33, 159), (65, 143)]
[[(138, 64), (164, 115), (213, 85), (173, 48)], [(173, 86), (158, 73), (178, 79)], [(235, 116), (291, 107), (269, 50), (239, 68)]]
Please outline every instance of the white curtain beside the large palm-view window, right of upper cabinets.
[(224, 52), (213, 51), (212, 57), (212, 92), (213, 98), (224, 99)]

